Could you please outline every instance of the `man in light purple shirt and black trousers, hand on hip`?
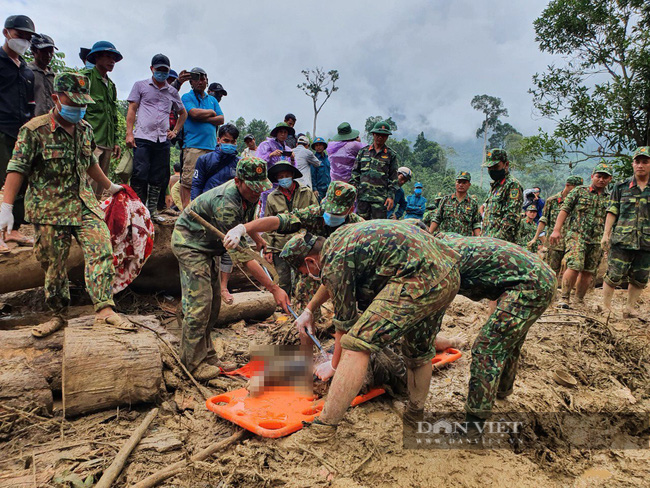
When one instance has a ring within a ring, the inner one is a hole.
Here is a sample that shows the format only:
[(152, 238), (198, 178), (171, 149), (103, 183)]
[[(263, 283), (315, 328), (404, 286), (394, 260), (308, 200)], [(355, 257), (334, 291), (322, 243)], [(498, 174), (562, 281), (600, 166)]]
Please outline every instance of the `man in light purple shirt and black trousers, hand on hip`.
[[(178, 135), (187, 118), (178, 91), (167, 83), (169, 66), (164, 54), (153, 57), (152, 77), (135, 82), (126, 115), (126, 145), (133, 148), (131, 186), (155, 222), (165, 220), (158, 215), (157, 204), (161, 190), (169, 182), (170, 139)], [(174, 130), (169, 130), (172, 109), (178, 114), (178, 122)]]

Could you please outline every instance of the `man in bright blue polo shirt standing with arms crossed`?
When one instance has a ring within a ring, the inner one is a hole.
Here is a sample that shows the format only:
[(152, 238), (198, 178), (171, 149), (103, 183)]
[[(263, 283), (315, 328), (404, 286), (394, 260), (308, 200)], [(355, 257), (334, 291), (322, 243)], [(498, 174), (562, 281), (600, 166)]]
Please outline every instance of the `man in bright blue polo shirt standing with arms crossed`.
[(192, 178), (196, 160), (217, 147), (216, 128), (223, 124), (224, 117), (217, 99), (205, 92), (208, 74), (202, 68), (190, 71), (192, 91), (181, 97), (187, 121), (183, 148), (183, 172), (181, 173), (181, 200), (183, 207), (190, 203)]

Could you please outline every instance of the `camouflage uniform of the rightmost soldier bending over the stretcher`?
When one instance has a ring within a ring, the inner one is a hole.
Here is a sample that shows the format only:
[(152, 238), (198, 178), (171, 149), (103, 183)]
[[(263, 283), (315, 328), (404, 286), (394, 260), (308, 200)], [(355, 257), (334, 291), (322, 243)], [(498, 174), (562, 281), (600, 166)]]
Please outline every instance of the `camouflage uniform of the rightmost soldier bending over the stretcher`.
[(459, 294), (497, 301), (472, 346), (465, 410), (487, 418), (496, 397), (512, 392), (521, 347), (528, 329), (553, 299), (557, 281), (539, 256), (485, 237), (440, 234), (461, 256)]

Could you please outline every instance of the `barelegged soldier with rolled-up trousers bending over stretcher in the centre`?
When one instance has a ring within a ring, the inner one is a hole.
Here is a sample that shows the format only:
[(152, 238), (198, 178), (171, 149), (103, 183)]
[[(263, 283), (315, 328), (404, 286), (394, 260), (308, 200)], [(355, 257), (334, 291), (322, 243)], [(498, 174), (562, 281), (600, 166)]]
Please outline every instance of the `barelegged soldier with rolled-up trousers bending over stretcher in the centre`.
[(400, 339), (408, 367), (405, 417), (421, 418), (435, 337), (459, 286), (458, 254), (409, 221), (372, 221), (343, 226), (327, 241), (296, 236), (280, 256), (301, 273), (317, 274), (334, 304), (329, 367), (337, 373), (316, 421), (322, 437), (334, 434), (358, 393), (370, 353)]

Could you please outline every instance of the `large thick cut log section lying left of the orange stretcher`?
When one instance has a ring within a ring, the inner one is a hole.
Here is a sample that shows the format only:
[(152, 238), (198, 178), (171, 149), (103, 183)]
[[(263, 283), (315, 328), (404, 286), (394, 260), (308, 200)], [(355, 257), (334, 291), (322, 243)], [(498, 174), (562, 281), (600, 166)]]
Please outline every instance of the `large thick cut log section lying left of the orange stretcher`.
[(135, 333), (93, 327), (92, 320), (64, 329), (65, 416), (154, 401), (163, 385), (156, 335), (144, 328)]

